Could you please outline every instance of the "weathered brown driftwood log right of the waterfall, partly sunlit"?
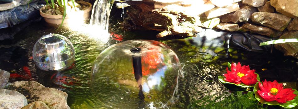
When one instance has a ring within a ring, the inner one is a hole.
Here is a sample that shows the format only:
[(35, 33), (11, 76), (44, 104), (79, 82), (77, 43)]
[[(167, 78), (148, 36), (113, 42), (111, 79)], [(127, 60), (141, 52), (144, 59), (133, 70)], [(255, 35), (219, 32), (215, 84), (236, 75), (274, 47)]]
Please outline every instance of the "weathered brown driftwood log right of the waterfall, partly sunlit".
[(156, 30), (161, 33), (156, 37), (168, 35), (192, 36), (202, 30), (199, 17), (189, 16), (184, 13), (183, 7), (169, 5), (162, 9), (145, 3), (130, 6), (123, 25), (126, 30)]

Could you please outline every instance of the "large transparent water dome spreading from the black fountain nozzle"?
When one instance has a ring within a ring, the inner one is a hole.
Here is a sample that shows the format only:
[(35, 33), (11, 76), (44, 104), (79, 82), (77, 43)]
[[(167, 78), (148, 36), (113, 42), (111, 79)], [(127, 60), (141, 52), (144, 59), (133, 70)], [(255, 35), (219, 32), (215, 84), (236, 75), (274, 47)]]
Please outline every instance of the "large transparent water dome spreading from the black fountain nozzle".
[(181, 64), (167, 45), (128, 40), (105, 49), (95, 60), (91, 88), (105, 107), (162, 107), (175, 98)]

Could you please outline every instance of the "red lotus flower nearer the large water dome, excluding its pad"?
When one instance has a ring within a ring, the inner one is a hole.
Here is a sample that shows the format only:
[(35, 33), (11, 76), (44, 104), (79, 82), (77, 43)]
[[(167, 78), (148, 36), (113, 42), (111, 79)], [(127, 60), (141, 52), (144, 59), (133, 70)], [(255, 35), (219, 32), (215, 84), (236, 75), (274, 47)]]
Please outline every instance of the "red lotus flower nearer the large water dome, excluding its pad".
[(254, 85), (257, 83), (257, 74), (255, 74), (255, 70), (249, 70), (249, 65), (245, 66), (241, 66), (241, 64), (238, 62), (238, 64), (236, 65), (236, 63), (232, 63), (231, 64), (231, 71), (228, 70), (228, 68), (226, 68), (227, 73), (223, 74), (226, 78), (224, 78), (224, 80), (226, 80), (227, 82), (230, 83), (235, 83), (235, 84), (240, 84), (240, 83), (244, 83), (246, 85)]

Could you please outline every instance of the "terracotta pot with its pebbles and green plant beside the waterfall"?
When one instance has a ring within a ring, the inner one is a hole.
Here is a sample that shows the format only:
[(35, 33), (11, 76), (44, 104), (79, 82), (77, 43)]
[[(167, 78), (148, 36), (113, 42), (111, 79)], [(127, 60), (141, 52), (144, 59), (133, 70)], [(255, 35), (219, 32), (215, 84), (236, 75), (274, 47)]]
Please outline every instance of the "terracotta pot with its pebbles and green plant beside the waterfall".
[(45, 0), (47, 4), (40, 8), (40, 15), (44, 17), (47, 23), (63, 24), (78, 20), (86, 20), (90, 17), (92, 5), (85, 1), (67, 1), (67, 0)]

